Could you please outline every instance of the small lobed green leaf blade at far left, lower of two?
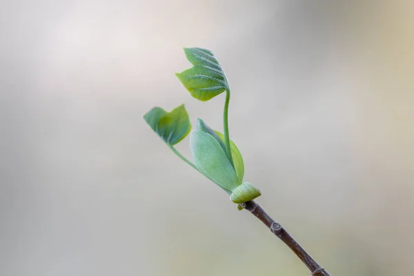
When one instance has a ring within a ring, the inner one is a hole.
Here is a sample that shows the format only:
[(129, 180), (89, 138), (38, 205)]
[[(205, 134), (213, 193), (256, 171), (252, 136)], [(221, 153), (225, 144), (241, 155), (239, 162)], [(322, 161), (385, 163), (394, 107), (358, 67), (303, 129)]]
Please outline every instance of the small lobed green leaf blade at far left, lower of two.
[(175, 145), (184, 139), (191, 129), (188, 112), (182, 104), (170, 112), (155, 107), (144, 115), (148, 126), (169, 145)]

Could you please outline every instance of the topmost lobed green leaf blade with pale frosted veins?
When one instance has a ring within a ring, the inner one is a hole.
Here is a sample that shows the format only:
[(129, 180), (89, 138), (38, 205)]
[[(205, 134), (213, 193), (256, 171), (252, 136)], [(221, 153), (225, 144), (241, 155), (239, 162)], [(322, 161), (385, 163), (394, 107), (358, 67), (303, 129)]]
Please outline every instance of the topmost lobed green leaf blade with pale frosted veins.
[(175, 73), (195, 99), (208, 101), (228, 88), (226, 75), (212, 52), (202, 48), (184, 48), (192, 68)]

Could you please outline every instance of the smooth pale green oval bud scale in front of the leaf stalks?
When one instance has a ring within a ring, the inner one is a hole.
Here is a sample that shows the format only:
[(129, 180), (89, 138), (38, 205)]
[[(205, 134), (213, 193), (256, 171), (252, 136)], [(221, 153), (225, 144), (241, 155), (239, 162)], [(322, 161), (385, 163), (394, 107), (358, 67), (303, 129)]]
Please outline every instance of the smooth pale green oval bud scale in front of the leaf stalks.
[(190, 150), (199, 171), (227, 192), (242, 184), (219, 142), (207, 132), (191, 132)]

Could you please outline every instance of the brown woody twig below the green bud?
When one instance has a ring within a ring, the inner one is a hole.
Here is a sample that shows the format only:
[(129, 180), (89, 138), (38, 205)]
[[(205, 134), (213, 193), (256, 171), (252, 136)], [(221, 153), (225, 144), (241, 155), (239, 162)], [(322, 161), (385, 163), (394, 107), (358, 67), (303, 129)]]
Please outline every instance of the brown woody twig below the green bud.
[(266, 211), (255, 201), (247, 201), (240, 204), (243, 208), (250, 211), (255, 217), (264, 223), (270, 232), (275, 234), (301, 259), (301, 261), (311, 270), (312, 276), (331, 276), (325, 268), (320, 266), (311, 255), (309, 255), (302, 246), (293, 239), (293, 237), (283, 228), (282, 225), (274, 221)]

